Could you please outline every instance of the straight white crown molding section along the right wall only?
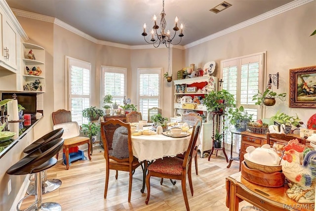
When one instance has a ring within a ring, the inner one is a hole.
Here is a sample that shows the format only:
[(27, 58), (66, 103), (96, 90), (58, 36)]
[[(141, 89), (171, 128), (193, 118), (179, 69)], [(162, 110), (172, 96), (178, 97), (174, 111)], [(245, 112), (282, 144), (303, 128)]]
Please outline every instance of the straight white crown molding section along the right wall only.
[(202, 38), (200, 40), (197, 40), (195, 42), (191, 42), (189, 44), (186, 44), (186, 45), (184, 45), (184, 49), (187, 49), (189, 47), (196, 46), (196, 45), (201, 44), (203, 42), (207, 42), (207, 41), (213, 40), (215, 38), (227, 35), (227, 34), (229, 34), (231, 32), (235, 32), (235, 31), (237, 31), (239, 29), (242, 29), (244, 27), (247, 27), (247, 26), (250, 26), (252, 24), (258, 23), (260, 21), (266, 20), (266, 19), (271, 18), (271, 17), (273, 17), (275, 15), (281, 14), (283, 12), (286, 12), (288, 10), (294, 9), (294, 8), (296, 8), (298, 6), (302, 6), (303, 4), (306, 4), (306, 3), (309, 3), (309, 2), (312, 2), (312, 1), (314, 1), (314, 0), (295, 0), (295, 1), (292, 1), (290, 3), (287, 3), (287, 4), (283, 5), (283, 6), (280, 6), (280, 7), (276, 8), (276, 9), (273, 9), (273, 10), (271, 10), (269, 12), (266, 12), (266, 13), (264, 13), (262, 15), (259, 15), (257, 17), (254, 17), (254, 18), (251, 18), (249, 20), (246, 20), (246, 21), (244, 21), (242, 23), (239, 23), (239, 24), (237, 24), (235, 26), (232, 26), (232, 27), (224, 29), (224, 30), (222, 30), (220, 32), (214, 33), (214, 34), (212, 34), (210, 36), (207, 36), (207, 37)]

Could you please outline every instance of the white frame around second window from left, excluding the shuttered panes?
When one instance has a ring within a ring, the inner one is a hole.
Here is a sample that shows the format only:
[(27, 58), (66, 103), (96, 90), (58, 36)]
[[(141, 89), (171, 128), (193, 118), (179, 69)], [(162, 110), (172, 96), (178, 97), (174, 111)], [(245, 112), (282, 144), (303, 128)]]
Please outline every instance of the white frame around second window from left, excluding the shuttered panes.
[[(104, 75), (105, 73), (119, 73), (119, 74), (124, 74), (124, 96), (126, 96), (127, 93), (127, 68), (124, 67), (113, 67), (113, 66), (105, 66), (101, 65), (101, 96), (100, 96), (100, 107), (103, 107), (103, 97), (105, 96), (105, 91), (104, 91)], [(116, 96), (112, 95), (113, 98), (120, 98), (121, 96)]]

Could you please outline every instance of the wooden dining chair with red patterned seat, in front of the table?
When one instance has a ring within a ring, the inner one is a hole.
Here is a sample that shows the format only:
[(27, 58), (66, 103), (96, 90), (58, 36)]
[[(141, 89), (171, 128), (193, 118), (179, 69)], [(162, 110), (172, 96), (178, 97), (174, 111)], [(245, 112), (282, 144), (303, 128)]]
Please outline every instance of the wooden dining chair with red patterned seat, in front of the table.
[(184, 159), (177, 157), (164, 157), (156, 160), (154, 163), (148, 166), (148, 173), (146, 176), (146, 187), (147, 187), (147, 198), (145, 203), (148, 205), (150, 198), (150, 177), (156, 176), (161, 178), (169, 179), (179, 179), (181, 180), (182, 193), (184, 202), (186, 204), (187, 211), (190, 210), (187, 190), (186, 190), (186, 176), (188, 174), (188, 180), (191, 190), (191, 195), (193, 196), (193, 184), (191, 176), (191, 160), (193, 157), (193, 151), (197, 143), (197, 136), (201, 127), (201, 122), (196, 123), (193, 127), (190, 143), (187, 149), (187, 153)]

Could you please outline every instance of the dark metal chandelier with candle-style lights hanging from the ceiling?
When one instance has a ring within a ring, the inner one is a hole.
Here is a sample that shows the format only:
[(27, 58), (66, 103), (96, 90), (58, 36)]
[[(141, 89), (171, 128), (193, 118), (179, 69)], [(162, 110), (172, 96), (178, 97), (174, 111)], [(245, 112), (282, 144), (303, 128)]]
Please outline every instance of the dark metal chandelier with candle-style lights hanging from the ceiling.
[(144, 36), (144, 40), (147, 43), (153, 44), (154, 47), (158, 47), (160, 45), (160, 43), (165, 44), (166, 47), (169, 47), (170, 43), (173, 44), (173, 45), (179, 44), (181, 42), (181, 40), (182, 40), (182, 37), (184, 36), (182, 34), (183, 24), (180, 25), (180, 30), (181, 31), (180, 31), (180, 34), (178, 35), (180, 37), (180, 41), (178, 43), (172, 42), (174, 37), (177, 34), (177, 31), (179, 31), (179, 27), (177, 26), (178, 25), (178, 17), (176, 16), (176, 18), (175, 18), (175, 27), (173, 27), (174, 35), (172, 36), (169, 30), (167, 30), (167, 32), (165, 32), (165, 28), (166, 28), (167, 22), (166, 22), (166, 20), (164, 18), (164, 16), (166, 15), (166, 13), (164, 13), (164, 0), (162, 0), (162, 11), (161, 11), (160, 15), (161, 15), (161, 19), (160, 19), (161, 31), (160, 31), (160, 33), (157, 32), (157, 30), (159, 29), (159, 26), (157, 25), (157, 22), (156, 22), (157, 21), (157, 17), (156, 17), (156, 15), (154, 15), (155, 25), (153, 26), (153, 29), (151, 31), (152, 39), (150, 40), (150, 42), (146, 41), (146, 38), (145, 38), (147, 36), (146, 23), (144, 23), (144, 32), (142, 33), (142, 36)]

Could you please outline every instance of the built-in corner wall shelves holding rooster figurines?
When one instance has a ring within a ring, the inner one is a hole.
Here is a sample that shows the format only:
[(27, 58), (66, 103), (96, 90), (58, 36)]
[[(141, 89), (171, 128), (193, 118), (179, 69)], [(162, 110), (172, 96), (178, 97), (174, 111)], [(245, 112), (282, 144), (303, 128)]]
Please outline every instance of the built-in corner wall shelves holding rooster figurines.
[[(28, 92), (45, 92), (45, 49), (39, 45), (31, 43), (22, 43), (22, 68), (23, 68), (23, 90)], [(28, 53), (32, 49), (36, 59), (28, 58)], [(33, 68), (36, 69), (39, 75), (29, 74), (27, 68), (32, 71)], [(32, 82), (36, 80), (40, 81), (40, 84), (36, 87), (32, 86)]]

